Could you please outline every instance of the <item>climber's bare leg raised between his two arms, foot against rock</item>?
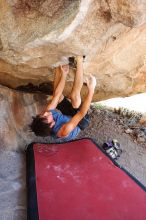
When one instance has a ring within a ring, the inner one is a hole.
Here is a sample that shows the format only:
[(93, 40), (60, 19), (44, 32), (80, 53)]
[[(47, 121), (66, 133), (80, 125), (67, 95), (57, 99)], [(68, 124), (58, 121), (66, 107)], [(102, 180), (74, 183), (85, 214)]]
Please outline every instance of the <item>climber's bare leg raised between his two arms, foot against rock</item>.
[(77, 70), (75, 74), (73, 88), (70, 94), (70, 99), (73, 108), (79, 108), (81, 104), (80, 92), (83, 86), (83, 57), (78, 56), (76, 60), (77, 60)]

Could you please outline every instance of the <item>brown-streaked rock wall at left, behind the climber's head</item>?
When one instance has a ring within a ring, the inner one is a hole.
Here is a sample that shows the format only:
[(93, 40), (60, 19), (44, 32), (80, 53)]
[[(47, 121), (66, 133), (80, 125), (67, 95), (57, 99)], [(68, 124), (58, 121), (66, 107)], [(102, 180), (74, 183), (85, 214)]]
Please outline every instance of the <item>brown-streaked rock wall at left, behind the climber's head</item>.
[(32, 116), (40, 113), (47, 103), (47, 96), (13, 91), (0, 86), (0, 143), (1, 148), (24, 150), (32, 141), (47, 141), (30, 132)]

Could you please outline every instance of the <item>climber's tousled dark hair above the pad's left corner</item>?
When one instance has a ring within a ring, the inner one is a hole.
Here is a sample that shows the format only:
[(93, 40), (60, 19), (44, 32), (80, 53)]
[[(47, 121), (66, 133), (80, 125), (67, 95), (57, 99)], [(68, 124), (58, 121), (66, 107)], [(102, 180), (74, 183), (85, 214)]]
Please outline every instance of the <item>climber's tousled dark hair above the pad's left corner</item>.
[(37, 115), (32, 117), (32, 123), (30, 124), (30, 130), (35, 133), (36, 136), (46, 137), (51, 134), (50, 123), (46, 123), (43, 117)]

